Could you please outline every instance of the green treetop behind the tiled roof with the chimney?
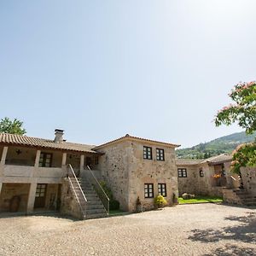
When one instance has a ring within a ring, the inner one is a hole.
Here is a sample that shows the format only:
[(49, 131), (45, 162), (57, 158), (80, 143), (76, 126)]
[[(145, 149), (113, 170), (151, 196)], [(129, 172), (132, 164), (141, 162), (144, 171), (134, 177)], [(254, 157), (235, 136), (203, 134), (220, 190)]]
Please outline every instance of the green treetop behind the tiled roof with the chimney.
[(13, 121), (7, 117), (0, 121), (0, 132), (24, 135), (26, 130), (22, 127), (23, 122), (14, 119)]

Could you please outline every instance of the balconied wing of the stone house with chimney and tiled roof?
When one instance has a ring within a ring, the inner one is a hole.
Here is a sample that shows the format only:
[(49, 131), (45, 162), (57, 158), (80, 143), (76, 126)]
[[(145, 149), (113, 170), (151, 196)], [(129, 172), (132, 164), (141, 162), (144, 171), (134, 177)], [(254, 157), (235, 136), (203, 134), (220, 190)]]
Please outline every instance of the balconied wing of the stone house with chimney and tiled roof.
[(79, 172), (98, 155), (93, 146), (67, 143), (62, 135), (55, 130), (55, 139), (47, 140), (0, 134), (0, 212), (60, 209), (67, 165)]

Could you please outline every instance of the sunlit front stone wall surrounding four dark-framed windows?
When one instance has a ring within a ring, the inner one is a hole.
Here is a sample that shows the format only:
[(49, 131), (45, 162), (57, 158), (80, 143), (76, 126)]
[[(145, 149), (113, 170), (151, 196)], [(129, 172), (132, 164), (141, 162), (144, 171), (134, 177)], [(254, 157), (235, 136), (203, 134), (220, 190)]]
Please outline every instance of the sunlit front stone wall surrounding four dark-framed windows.
[[(177, 197), (177, 167), (174, 148), (154, 143), (131, 141), (131, 160), (129, 165), (129, 211), (136, 209), (137, 196), (144, 209), (154, 208), (154, 199), (144, 198), (144, 183), (154, 184), (154, 197), (159, 195), (158, 183), (166, 183), (166, 201), (173, 204), (173, 195)], [(143, 159), (143, 146), (151, 147), (153, 159)], [(165, 160), (156, 160), (156, 148), (165, 151)]]

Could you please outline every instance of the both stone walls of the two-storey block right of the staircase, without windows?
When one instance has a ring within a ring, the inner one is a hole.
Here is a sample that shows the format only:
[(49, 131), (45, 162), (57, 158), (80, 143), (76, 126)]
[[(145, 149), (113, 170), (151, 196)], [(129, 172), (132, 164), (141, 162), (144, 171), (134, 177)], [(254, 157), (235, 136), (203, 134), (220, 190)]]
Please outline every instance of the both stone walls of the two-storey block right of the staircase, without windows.
[[(143, 159), (143, 146), (152, 148), (152, 160)], [(156, 148), (165, 150), (164, 161), (156, 160)], [(172, 205), (173, 195), (177, 196), (177, 168), (172, 146), (127, 138), (103, 146), (99, 151), (104, 154), (99, 159), (98, 168), (121, 209), (135, 211), (138, 196), (144, 209), (154, 207), (153, 198), (144, 198), (144, 183), (154, 184), (154, 196), (158, 195), (158, 183), (166, 183), (166, 200)]]

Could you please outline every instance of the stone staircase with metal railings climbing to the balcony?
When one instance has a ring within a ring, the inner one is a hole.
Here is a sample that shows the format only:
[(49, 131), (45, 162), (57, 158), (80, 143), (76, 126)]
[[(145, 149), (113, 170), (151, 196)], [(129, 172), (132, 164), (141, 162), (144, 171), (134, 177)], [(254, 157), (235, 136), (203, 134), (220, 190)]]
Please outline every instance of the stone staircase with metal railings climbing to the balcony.
[[(108, 212), (106, 211), (105, 207), (103, 207), (102, 201), (99, 199), (92, 185), (84, 177), (78, 177), (77, 179), (79, 181), (80, 187), (84, 192), (84, 195), (82, 195), (81, 190), (79, 189), (79, 185), (75, 181), (75, 178), (71, 177), (70, 179), (73, 183), (73, 188), (75, 190), (74, 192), (78, 197), (79, 204), (81, 205), (84, 212), (84, 219), (108, 217)], [(84, 201), (84, 196), (87, 202)]]

